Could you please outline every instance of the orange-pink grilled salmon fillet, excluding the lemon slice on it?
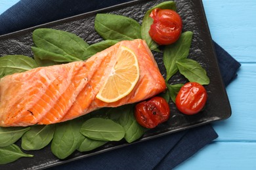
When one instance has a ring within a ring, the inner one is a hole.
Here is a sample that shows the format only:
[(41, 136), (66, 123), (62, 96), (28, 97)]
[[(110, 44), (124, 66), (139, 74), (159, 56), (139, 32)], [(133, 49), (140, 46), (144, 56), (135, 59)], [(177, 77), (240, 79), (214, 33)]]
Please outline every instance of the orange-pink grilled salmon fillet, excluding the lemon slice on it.
[[(140, 78), (135, 88), (113, 103), (96, 94), (116, 63), (119, 46), (136, 54)], [(165, 80), (146, 42), (121, 41), (87, 61), (38, 67), (0, 79), (0, 126), (32, 126), (72, 120), (102, 107), (148, 99), (165, 90)]]

